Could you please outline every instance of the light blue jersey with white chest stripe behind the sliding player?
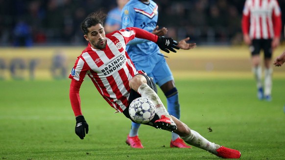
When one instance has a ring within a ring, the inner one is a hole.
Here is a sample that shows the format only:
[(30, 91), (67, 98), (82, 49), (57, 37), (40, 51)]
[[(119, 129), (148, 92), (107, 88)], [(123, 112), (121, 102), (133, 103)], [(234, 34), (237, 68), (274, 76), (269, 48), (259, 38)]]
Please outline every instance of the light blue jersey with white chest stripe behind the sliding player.
[[(138, 27), (152, 32), (158, 20), (158, 5), (152, 0), (149, 1), (143, 3), (140, 0), (130, 0), (121, 11), (122, 28)], [(126, 50), (134, 63), (160, 53), (159, 47), (152, 41), (136, 38), (129, 44)]]

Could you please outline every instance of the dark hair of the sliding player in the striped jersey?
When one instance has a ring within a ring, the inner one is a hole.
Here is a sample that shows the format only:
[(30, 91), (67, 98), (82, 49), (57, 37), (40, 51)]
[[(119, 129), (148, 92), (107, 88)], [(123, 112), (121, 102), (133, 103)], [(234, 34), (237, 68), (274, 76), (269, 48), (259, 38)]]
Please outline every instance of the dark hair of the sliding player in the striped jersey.
[(101, 11), (89, 14), (87, 18), (81, 22), (81, 30), (85, 35), (87, 35), (89, 32), (88, 28), (90, 28), (91, 26), (95, 26), (99, 23), (103, 26), (103, 22), (106, 16), (107, 15)]

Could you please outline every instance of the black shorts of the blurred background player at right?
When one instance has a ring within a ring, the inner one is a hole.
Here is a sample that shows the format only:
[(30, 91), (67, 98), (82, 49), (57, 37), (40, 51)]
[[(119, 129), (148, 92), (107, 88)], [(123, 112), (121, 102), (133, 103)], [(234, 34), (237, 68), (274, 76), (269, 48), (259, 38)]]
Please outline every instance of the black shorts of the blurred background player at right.
[(251, 55), (260, 55), (261, 49), (264, 52), (264, 59), (272, 58), (272, 48), (271, 48), (272, 39), (268, 40), (252, 40), (252, 44), (250, 46)]

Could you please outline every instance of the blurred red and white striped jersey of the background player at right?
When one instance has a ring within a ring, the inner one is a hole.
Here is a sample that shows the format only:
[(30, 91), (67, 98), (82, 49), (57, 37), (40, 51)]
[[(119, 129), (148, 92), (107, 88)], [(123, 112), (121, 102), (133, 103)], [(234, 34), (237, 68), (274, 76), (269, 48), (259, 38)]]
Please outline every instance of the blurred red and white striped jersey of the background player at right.
[(251, 39), (280, 37), (281, 10), (277, 0), (246, 0), (242, 16), (242, 32)]

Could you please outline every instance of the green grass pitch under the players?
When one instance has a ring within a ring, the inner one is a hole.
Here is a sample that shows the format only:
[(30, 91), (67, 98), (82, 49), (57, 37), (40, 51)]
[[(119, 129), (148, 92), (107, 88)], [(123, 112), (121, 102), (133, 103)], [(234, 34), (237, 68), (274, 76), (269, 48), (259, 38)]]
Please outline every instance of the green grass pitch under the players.
[[(144, 149), (125, 144), (130, 120), (99, 96), (90, 80), (81, 88), (89, 134), (80, 140), (69, 101), (70, 80), (0, 81), (2, 160), (218, 160), (199, 148), (169, 148), (169, 132), (142, 126)], [(205, 138), (238, 149), (242, 160), (285, 159), (285, 81), (273, 81), (273, 100), (256, 98), (255, 82), (176, 80), (181, 120)], [(162, 100), (165, 98), (161, 92)], [(208, 131), (208, 127), (213, 132)]]

